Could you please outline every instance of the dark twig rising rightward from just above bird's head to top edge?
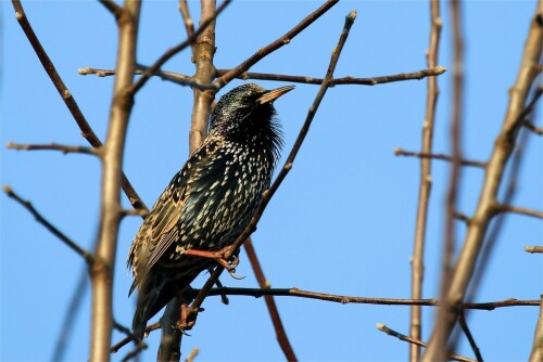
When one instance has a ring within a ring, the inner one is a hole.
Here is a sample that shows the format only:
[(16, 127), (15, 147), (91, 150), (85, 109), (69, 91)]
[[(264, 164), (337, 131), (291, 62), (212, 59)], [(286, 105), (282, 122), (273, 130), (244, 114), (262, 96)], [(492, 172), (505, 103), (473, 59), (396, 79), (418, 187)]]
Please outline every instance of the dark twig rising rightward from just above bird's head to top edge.
[(279, 39), (275, 40), (274, 42), (272, 42), (270, 44), (268, 44), (264, 48), (258, 49), (253, 55), (251, 55), (243, 63), (239, 64), (233, 69), (228, 70), (227, 73), (222, 75), (219, 78), (217, 78), (213, 82), (213, 85), (216, 86), (217, 89), (223, 88), (230, 80), (232, 80), (233, 78), (237, 78), (239, 75), (247, 72), (249, 68), (251, 68), (254, 64), (256, 64), (263, 57), (265, 57), (269, 53), (278, 50), (279, 48), (288, 44), (296, 35), (299, 35), (307, 26), (313, 24), (313, 22), (315, 22), (317, 18), (319, 18), (324, 13), (326, 13), (333, 5), (336, 5), (338, 3), (338, 1), (339, 0), (326, 1), (323, 5), (320, 5), (317, 10), (315, 10), (310, 15), (307, 15), (303, 21), (301, 21), (296, 26), (294, 26), (292, 29), (287, 31)]

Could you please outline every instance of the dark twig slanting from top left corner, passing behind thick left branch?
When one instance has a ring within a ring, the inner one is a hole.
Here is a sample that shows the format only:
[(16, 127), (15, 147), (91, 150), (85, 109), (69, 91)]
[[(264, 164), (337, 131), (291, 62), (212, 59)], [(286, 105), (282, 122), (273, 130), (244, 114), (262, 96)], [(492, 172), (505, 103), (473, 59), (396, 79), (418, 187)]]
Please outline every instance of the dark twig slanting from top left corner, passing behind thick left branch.
[[(88, 124), (87, 119), (81, 113), (81, 109), (77, 105), (77, 102), (75, 101), (74, 96), (70, 92), (70, 90), (66, 88), (66, 85), (64, 85), (64, 81), (60, 77), (59, 73), (56, 72), (54, 64), (51, 62), (51, 59), (49, 59), (49, 55), (47, 55), (46, 50), (43, 47), (41, 47), (41, 43), (39, 42), (38, 37), (34, 33), (34, 29), (30, 26), (30, 23), (28, 22), (28, 18), (26, 17), (25, 11), (23, 9), (23, 5), (21, 4), (20, 0), (12, 0), (13, 8), (15, 9), (15, 16), (17, 18), (18, 24), (21, 25), (21, 28), (25, 33), (28, 41), (30, 42), (30, 46), (33, 47), (36, 55), (38, 55), (38, 59), (43, 66), (43, 69), (46, 70), (47, 75), (51, 79), (53, 86), (56, 88), (56, 91), (61, 95), (62, 100), (64, 101), (64, 104), (68, 108), (70, 113), (72, 114), (72, 117), (74, 117), (74, 120), (76, 121), (77, 126), (81, 130), (81, 135), (89, 142), (91, 146), (94, 148), (99, 148), (102, 146), (102, 142), (98, 138), (98, 135), (94, 133), (90, 125)], [(144, 209), (147, 210), (146, 204), (141, 201), (141, 197), (139, 197), (138, 193), (136, 190), (132, 188), (128, 179), (126, 178), (125, 173), (123, 172), (122, 174), (122, 186), (123, 191), (125, 192), (126, 196), (130, 201), (130, 204), (132, 205), (134, 208), (137, 209)]]

